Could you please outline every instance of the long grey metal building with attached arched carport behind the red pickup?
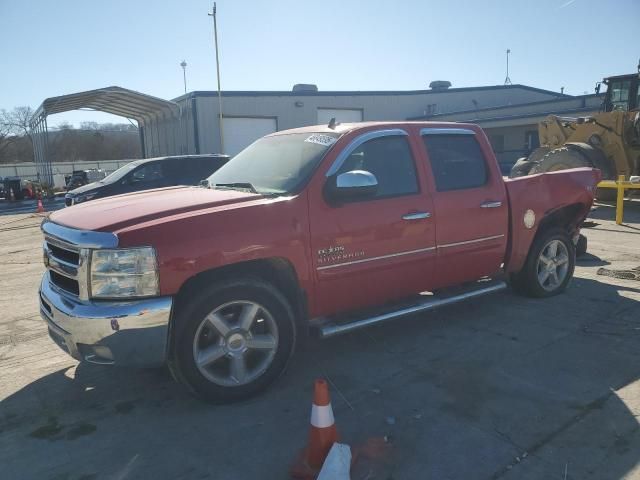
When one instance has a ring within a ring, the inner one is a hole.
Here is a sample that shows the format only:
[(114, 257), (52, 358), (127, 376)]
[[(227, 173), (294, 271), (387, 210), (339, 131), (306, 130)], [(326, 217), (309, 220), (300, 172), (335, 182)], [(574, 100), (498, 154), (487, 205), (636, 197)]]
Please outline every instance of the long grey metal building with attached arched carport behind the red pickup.
[(479, 123), (489, 134), (501, 163), (509, 164), (537, 146), (536, 123), (544, 116), (586, 115), (600, 105), (595, 95), (572, 97), (526, 85), (449, 85), (437, 81), (428, 90), (412, 91), (322, 91), (315, 85), (295, 85), (291, 91), (225, 91), (221, 94), (222, 131), (218, 94), (212, 91), (191, 92), (169, 101), (107, 87), (48, 98), (33, 123), (35, 133), (42, 133), (45, 126), (44, 140), (36, 141), (38, 172), (45, 181), (51, 172), (46, 158), (46, 115), (77, 108), (135, 119), (145, 158), (235, 155), (268, 133), (326, 124), (331, 118), (343, 123), (427, 119)]

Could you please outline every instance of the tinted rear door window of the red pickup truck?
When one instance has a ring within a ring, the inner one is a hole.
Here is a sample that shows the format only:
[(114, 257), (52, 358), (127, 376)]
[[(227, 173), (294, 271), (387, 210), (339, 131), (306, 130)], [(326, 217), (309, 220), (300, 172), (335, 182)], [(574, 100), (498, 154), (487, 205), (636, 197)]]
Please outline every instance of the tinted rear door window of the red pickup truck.
[(474, 135), (425, 135), (422, 140), (439, 192), (487, 183), (487, 164)]

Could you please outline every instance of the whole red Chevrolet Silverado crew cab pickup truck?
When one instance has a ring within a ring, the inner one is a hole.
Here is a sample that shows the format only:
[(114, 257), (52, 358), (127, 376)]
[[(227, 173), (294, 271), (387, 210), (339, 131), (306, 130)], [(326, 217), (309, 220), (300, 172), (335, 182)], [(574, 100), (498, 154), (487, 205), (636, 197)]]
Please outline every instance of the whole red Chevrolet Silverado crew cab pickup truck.
[(308, 332), (337, 335), (507, 283), (562, 292), (599, 178), (580, 168), (504, 179), (469, 124), (281, 131), (208, 187), (53, 213), (41, 313), (78, 360), (166, 363), (199, 396), (234, 401), (273, 382)]

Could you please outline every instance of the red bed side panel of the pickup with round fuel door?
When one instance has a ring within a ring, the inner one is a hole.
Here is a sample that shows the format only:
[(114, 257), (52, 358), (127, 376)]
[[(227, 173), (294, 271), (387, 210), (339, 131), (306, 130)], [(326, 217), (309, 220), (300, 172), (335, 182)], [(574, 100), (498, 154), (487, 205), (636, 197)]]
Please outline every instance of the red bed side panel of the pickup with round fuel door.
[(510, 235), (505, 271), (522, 269), (535, 236), (544, 229), (559, 226), (575, 234), (593, 205), (600, 178), (600, 170), (574, 168), (506, 179)]

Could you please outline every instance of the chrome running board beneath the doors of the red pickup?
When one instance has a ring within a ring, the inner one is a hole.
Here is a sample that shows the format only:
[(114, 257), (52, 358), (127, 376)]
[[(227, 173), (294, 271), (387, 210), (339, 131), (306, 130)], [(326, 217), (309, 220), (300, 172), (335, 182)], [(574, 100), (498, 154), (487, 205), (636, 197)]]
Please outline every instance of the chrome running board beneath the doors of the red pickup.
[(414, 303), (404, 303), (400, 308), (380, 313), (373, 316), (362, 316), (350, 318), (348, 320), (340, 321), (338, 318), (322, 318), (313, 320), (311, 323), (311, 332), (318, 338), (329, 338), (336, 335), (342, 335), (343, 333), (357, 330), (358, 328), (364, 328), (378, 323), (386, 322), (388, 320), (395, 320), (396, 318), (404, 317), (419, 312), (426, 312), (428, 310), (435, 310), (436, 308), (452, 305), (472, 298), (481, 297), (490, 293), (500, 292), (507, 288), (507, 284), (504, 281), (496, 282), (484, 282), (474, 284), (475, 288), (467, 289), (462, 293), (456, 295), (449, 295), (441, 298), (435, 298), (431, 296), (428, 299), (422, 299)]

